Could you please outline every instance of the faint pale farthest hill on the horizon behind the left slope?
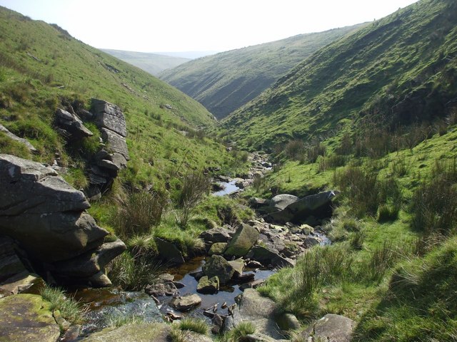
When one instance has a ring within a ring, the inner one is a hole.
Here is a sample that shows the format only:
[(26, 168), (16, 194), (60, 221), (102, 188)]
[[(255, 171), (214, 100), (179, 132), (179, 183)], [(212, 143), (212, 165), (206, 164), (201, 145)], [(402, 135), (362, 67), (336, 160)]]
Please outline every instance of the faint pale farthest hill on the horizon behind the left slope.
[(191, 61), (190, 58), (164, 56), (156, 53), (110, 50), (107, 48), (102, 48), (101, 51), (109, 53), (111, 56), (119, 58), (121, 61), (127, 62), (132, 66), (138, 66), (140, 69), (154, 76), (158, 76), (161, 71), (175, 68), (182, 63)]

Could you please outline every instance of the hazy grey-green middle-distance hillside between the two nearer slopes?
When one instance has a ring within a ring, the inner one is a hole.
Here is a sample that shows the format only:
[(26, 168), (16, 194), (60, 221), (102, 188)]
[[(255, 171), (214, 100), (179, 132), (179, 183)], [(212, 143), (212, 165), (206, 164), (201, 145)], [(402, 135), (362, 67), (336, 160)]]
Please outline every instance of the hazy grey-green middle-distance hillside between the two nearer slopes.
[(314, 51), (359, 26), (336, 28), (199, 58), (161, 78), (224, 118), (252, 100)]

